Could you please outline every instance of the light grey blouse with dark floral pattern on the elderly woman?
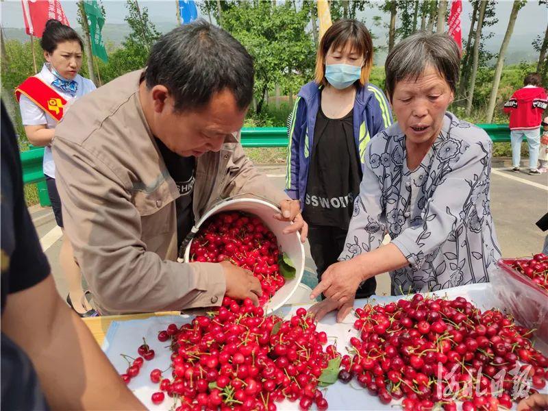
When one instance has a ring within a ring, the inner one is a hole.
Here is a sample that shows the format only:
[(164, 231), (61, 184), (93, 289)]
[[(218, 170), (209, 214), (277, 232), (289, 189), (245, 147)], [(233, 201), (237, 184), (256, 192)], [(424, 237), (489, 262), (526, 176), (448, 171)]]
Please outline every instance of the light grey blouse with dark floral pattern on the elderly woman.
[(489, 207), (492, 145), (482, 129), (446, 112), (411, 171), (398, 123), (377, 134), (339, 260), (376, 249), (388, 232), (409, 262), (390, 273), (393, 295), (488, 282), (501, 256)]

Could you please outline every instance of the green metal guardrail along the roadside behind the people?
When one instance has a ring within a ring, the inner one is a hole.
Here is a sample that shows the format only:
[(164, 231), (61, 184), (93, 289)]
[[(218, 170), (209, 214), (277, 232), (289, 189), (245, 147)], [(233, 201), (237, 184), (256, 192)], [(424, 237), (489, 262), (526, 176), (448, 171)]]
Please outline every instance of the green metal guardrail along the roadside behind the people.
[[(477, 124), (477, 126), (484, 129), (493, 142), (510, 142), (508, 124)], [(287, 144), (286, 127), (242, 128), (243, 147), (286, 147)], [(40, 183), (44, 180), (44, 173), (42, 173), (43, 155), (44, 149), (42, 147), (35, 147), (21, 153), (24, 184)], [(42, 202), (42, 197), (44, 196), (40, 195), (40, 205), (49, 206), (49, 199)]]

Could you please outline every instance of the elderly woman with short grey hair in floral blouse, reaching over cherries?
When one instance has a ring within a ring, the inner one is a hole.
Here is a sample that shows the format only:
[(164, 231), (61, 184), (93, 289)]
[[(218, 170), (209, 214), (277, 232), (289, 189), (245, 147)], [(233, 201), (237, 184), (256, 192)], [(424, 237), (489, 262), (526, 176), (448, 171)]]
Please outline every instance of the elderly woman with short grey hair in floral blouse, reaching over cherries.
[(326, 297), (311, 309), (317, 319), (338, 310), (343, 321), (360, 283), (386, 271), (393, 295), (488, 282), (500, 256), (489, 208), (492, 143), (447, 112), (459, 64), (449, 36), (423, 32), (386, 58), (397, 123), (369, 142), (346, 249), (312, 291)]

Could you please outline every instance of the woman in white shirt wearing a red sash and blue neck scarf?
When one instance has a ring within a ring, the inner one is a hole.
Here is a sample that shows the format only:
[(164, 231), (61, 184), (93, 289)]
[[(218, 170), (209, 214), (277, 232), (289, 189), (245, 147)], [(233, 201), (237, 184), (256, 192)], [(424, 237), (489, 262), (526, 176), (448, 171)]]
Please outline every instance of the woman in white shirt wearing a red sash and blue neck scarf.
[[(82, 67), (83, 45), (82, 38), (74, 29), (60, 21), (49, 20), (40, 46), (46, 60), (42, 70), (27, 78), (16, 88), (15, 93), (29, 142), (45, 147), (43, 168), (48, 195), (55, 221), (62, 228), (61, 201), (55, 188), (55, 164), (51, 155), (53, 134), (67, 103), (95, 90), (95, 84), (78, 74)], [(69, 286), (67, 303), (80, 316), (96, 315), (84, 298), (82, 275), (74, 261), (71, 243), (64, 234), (59, 258)]]

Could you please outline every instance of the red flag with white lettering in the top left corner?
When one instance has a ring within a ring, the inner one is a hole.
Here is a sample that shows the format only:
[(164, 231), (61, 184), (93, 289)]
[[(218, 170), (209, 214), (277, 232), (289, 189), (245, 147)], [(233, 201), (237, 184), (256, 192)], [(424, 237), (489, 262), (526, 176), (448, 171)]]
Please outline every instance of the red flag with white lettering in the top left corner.
[(50, 18), (69, 25), (59, 0), (21, 0), (21, 4), (23, 5), (25, 31), (29, 35), (42, 37), (46, 22)]

